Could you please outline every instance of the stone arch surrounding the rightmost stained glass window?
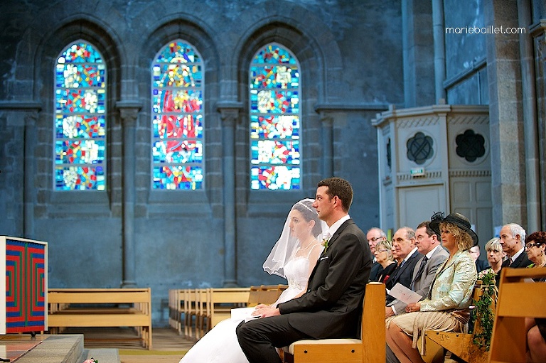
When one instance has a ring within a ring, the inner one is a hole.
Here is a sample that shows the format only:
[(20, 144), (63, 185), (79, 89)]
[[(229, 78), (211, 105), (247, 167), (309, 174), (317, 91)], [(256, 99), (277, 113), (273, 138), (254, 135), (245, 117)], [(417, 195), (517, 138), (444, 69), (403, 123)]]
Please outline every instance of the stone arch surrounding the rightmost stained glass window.
[[(296, 11), (296, 15), (297, 15)], [(299, 18), (306, 18), (309, 13), (299, 13)], [(234, 50), (235, 63), (232, 68), (237, 69), (237, 87), (238, 97), (242, 102), (241, 124), (237, 130), (238, 143), (244, 144), (244, 152), (237, 154), (237, 180), (247, 180), (249, 173), (248, 159), (248, 72), (252, 57), (257, 50), (267, 43), (279, 43), (288, 48), (299, 61), (301, 81), (301, 117), (302, 117), (302, 193), (314, 193), (314, 187), (317, 180), (321, 177), (319, 163), (316, 159), (321, 155), (321, 148), (318, 140), (320, 139), (319, 117), (315, 111), (315, 105), (319, 103), (332, 102), (328, 97), (329, 83), (337, 82), (341, 70), (341, 52), (333, 36), (324, 30), (326, 26), (321, 27), (321, 22), (317, 20), (319, 26), (314, 21), (309, 21), (310, 28), (306, 28), (301, 21), (294, 18), (281, 16), (268, 17), (262, 22), (258, 22), (250, 28), (246, 35), (242, 37), (240, 43)], [(307, 23), (307, 22), (306, 22)], [(328, 57), (326, 54), (328, 53)], [(238, 65), (236, 67), (235, 65)], [(245, 188), (248, 188), (245, 183)], [(245, 193), (240, 197), (244, 200), (252, 197)], [(278, 195), (277, 195), (278, 197)], [(286, 195), (286, 197), (291, 197)], [(263, 199), (263, 198), (262, 198)]]

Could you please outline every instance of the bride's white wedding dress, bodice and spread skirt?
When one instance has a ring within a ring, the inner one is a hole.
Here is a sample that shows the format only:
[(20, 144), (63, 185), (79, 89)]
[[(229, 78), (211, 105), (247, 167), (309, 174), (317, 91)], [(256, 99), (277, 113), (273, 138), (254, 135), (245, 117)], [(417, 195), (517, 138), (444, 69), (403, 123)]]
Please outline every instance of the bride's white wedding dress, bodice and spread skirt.
[[(309, 279), (309, 256), (289, 261), (284, 266), (284, 276), (288, 280), (288, 288), (282, 292), (274, 306), (304, 291)], [(235, 328), (241, 321), (232, 318), (222, 320), (196, 342), (178, 363), (248, 363), (235, 335)]]

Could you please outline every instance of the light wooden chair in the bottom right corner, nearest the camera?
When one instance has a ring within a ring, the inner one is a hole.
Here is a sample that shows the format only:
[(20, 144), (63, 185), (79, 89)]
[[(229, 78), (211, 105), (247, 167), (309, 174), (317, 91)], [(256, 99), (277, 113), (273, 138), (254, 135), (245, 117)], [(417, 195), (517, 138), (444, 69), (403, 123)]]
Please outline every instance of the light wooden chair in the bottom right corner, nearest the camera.
[(526, 362), (525, 318), (546, 318), (546, 267), (501, 270), (489, 362)]

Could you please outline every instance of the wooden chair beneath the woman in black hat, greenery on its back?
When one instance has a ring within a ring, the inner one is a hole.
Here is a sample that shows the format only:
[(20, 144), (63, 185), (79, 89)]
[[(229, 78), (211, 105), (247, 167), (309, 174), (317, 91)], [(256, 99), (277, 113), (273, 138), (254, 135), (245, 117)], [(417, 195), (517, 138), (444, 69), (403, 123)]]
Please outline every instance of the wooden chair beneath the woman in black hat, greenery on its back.
[[(476, 286), (473, 291), (473, 300), (477, 301), (481, 298), (481, 286)], [(493, 310), (494, 310), (493, 306)], [(476, 317), (476, 321), (479, 317)], [(427, 330), (424, 332), (420, 340), (424, 339), (427, 354), (422, 356), (426, 363), (441, 363), (444, 362), (445, 351), (455, 354), (464, 362), (486, 363), (488, 360), (488, 352), (480, 350), (473, 343), (473, 335), (463, 332), (440, 332), (437, 330)]]

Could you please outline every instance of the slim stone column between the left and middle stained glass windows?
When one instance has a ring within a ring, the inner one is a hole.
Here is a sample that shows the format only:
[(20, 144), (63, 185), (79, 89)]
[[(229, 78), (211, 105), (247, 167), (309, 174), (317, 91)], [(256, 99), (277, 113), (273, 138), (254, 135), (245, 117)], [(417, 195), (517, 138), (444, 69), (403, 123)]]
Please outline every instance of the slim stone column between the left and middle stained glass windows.
[(135, 247), (134, 247), (134, 201), (135, 201), (135, 185), (136, 177), (134, 167), (135, 153), (135, 132), (137, 127), (137, 117), (141, 106), (137, 102), (117, 102), (119, 116), (122, 118), (123, 129), (123, 183), (122, 183), (122, 228), (123, 228), (123, 276), (122, 287), (133, 288), (137, 287), (136, 282), (136, 263), (135, 263)]

